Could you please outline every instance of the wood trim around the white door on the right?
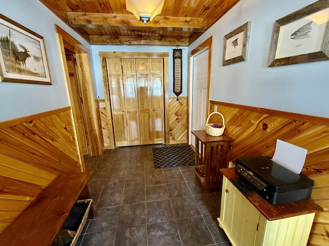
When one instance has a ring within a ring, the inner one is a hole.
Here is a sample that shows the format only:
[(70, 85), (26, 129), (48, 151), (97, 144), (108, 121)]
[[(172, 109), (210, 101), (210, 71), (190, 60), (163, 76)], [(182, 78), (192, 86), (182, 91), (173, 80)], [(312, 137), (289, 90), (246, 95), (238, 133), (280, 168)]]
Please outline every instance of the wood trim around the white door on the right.
[(188, 99), (187, 99), (187, 142), (189, 142), (189, 130), (190, 130), (190, 86), (191, 86), (191, 58), (197, 54), (199, 51), (202, 51), (203, 49), (208, 47), (208, 81), (207, 81), (207, 108), (206, 108), (206, 119), (209, 114), (209, 100), (210, 100), (210, 85), (211, 85), (211, 69), (212, 69), (212, 36), (210, 36), (207, 40), (205, 40), (202, 44), (197, 46), (195, 49), (193, 49), (189, 54), (189, 83), (188, 83)]

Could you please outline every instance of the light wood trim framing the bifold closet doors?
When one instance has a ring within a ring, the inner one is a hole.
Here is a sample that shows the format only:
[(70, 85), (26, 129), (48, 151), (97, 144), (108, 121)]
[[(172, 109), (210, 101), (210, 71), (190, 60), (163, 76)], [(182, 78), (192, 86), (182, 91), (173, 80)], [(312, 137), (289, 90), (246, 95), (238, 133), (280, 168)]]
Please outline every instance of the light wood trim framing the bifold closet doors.
[(110, 139), (110, 149), (115, 148), (114, 143), (114, 132), (112, 124), (112, 110), (111, 102), (109, 100), (109, 88), (107, 84), (107, 73), (106, 73), (106, 58), (163, 58), (163, 89), (164, 98), (165, 98), (165, 144), (169, 144), (169, 53), (168, 52), (99, 52), (101, 68), (102, 68), (102, 77), (103, 77), (103, 89), (104, 89), (104, 100), (107, 117), (107, 128), (108, 136)]

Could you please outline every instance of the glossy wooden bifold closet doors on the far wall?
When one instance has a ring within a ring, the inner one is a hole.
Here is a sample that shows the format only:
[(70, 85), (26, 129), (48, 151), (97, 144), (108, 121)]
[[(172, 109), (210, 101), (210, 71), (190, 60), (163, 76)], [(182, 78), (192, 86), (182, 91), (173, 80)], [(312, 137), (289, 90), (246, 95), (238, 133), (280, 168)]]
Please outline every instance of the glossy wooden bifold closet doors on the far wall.
[(106, 58), (115, 145), (165, 142), (161, 58)]

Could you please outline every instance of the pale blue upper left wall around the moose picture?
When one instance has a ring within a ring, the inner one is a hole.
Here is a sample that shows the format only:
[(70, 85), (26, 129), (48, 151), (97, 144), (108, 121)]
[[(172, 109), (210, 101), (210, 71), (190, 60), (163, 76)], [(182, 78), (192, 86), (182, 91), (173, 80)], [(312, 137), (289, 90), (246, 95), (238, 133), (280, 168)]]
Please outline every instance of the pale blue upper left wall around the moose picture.
[(52, 85), (0, 82), (0, 122), (69, 106), (54, 24), (90, 45), (38, 0), (0, 0), (0, 13), (43, 36)]

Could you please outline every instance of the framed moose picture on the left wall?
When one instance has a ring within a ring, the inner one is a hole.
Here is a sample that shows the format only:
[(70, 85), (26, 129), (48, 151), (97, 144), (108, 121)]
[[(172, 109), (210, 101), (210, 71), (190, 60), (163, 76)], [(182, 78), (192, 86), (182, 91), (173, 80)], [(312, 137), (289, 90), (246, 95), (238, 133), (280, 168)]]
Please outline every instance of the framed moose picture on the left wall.
[(51, 85), (43, 37), (2, 14), (0, 80)]

